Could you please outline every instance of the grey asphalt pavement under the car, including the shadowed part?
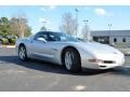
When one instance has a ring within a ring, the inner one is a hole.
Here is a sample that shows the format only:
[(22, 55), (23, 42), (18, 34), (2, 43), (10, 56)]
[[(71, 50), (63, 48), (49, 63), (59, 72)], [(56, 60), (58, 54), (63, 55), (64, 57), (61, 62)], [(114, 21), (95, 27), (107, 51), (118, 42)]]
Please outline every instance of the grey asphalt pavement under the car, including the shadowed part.
[(14, 48), (0, 47), (1, 92), (129, 92), (130, 56), (122, 67), (83, 68), (69, 73), (64, 67), (30, 59), (22, 61)]

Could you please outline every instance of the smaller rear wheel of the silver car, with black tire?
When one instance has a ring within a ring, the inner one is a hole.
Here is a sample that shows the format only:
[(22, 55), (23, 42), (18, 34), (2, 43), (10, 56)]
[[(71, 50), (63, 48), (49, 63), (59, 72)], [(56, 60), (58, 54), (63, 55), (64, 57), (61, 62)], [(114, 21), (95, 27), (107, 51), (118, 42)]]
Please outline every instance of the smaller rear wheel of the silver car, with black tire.
[[(22, 56), (22, 51), (24, 51), (23, 52), (24, 56)], [(20, 47), (18, 47), (18, 57), (20, 57), (21, 60), (27, 60), (28, 59), (27, 58), (27, 51), (26, 51), (25, 45), (20, 45)]]

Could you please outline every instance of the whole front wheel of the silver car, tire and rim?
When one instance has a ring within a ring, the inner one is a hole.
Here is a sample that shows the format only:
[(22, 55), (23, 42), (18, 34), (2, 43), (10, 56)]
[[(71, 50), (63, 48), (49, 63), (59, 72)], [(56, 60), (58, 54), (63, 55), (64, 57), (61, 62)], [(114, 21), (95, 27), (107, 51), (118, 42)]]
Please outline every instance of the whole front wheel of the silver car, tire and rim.
[(66, 48), (63, 54), (63, 64), (70, 72), (78, 72), (81, 70), (80, 55), (74, 48)]

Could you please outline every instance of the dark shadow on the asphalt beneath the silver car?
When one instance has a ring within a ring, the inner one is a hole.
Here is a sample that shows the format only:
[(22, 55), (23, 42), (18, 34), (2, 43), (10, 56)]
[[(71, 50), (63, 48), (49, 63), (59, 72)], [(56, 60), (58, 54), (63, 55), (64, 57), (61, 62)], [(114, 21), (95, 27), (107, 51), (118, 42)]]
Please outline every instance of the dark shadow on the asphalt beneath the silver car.
[(27, 61), (22, 61), (17, 56), (0, 56), (0, 65), (2, 64), (14, 64), (17, 66), (26, 67), (28, 69), (40, 70), (44, 72), (60, 73), (60, 74), (73, 74), (73, 75), (95, 75), (100, 73), (113, 73), (113, 74), (121, 74), (130, 77), (130, 68), (115, 68), (107, 70), (92, 70), (82, 68), (82, 70), (78, 73), (68, 72), (65, 67), (54, 65), (51, 63), (46, 63), (37, 59), (29, 59)]

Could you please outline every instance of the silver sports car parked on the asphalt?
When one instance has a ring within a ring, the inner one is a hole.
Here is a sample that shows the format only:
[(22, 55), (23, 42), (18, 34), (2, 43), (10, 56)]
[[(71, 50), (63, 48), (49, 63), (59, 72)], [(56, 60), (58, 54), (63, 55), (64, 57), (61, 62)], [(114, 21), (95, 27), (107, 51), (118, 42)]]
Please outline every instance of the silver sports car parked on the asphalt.
[(82, 42), (62, 32), (40, 31), (16, 42), (16, 52), (22, 60), (37, 58), (64, 65), (77, 72), (81, 67), (108, 69), (123, 65), (125, 56), (118, 50), (101, 43)]

